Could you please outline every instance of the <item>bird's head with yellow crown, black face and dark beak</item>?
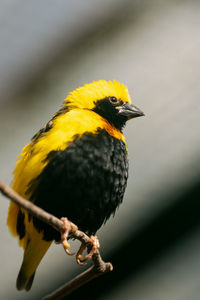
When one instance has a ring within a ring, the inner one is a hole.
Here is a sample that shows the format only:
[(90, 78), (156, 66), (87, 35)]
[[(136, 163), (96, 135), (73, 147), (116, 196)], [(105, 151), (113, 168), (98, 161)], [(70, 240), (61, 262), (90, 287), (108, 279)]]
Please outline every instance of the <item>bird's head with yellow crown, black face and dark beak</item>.
[(122, 130), (127, 120), (143, 116), (144, 113), (131, 104), (128, 89), (116, 80), (99, 80), (85, 84), (66, 98), (68, 109), (92, 110)]

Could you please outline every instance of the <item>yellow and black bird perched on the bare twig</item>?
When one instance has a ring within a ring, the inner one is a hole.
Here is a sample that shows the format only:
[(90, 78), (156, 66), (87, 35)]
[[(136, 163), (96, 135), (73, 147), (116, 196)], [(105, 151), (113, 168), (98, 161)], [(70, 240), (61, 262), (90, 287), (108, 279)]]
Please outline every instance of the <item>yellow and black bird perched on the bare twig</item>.
[[(89, 236), (115, 214), (128, 178), (126, 122), (144, 113), (116, 80), (78, 87), (18, 156), (12, 188)], [(36, 269), (60, 234), (10, 202), (7, 225), (24, 249), (18, 290), (30, 290)]]

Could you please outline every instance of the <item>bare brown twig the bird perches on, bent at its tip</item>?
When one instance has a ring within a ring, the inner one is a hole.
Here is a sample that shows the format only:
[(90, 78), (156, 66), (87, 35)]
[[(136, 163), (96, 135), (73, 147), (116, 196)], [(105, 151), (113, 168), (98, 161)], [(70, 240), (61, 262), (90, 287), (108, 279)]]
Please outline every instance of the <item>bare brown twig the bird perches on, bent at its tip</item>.
[[(30, 201), (25, 200), (23, 197), (21, 197), (19, 194), (13, 191), (11, 188), (6, 186), (1, 180), (0, 180), (0, 191), (4, 196), (14, 201), (20, 207), (26, 209), (34, 217), (52, 226), (61, 234), (63, 233), (64, 230), (63, 222), (61, 220), (47, 213), (46, 211), (34, 205)], [(72, 223), (69, 222), (69, 224), (71, 226)], [(92, 246), (90, 237), (78, 229), (76, 231), (71, 231), (70, 237), (73, 237), (74, 239), (77, 239), (82, 243), (85, 243), (88, 249)], [(94, 264), (92, 267), (90, 267), (88, 270), (84, 271), (83, 273), (79, 274), (74, 279), (66, 283), (64, 286), (60, 287), (58, 290), (44, 297), (43, 299), (44, 300), (62, 299), (64, 296), (69, 295), (72, 291), (78, 289), (80, 286), (84, 285), (88, 281), (91, 281), (92, 279), (104, 273), (110, 272), (113, 269), (111, 263), (105, 263), (102, 260), (98, 249), (94, 251), (94, 254), (92, 255), (92, 260)]]

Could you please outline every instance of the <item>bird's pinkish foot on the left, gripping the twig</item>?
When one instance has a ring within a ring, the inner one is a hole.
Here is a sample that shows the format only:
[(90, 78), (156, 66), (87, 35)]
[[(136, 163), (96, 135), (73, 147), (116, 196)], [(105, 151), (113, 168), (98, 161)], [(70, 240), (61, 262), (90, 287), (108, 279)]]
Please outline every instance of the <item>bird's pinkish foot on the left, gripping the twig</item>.
[(70, 248), (70, 244), (68, 243), (67, 239), (68, 239), (69, 233), (75, 232), (78, 228), (75, 224), (68, 221), (67, 218), (61, 218), (61, 221), (63, 222), (63, 232), (61, 233), (61, 243), (63, 245), (65, 252), (68, 255), (74, 255), (74, 253), (72, 253), (68, 250)]

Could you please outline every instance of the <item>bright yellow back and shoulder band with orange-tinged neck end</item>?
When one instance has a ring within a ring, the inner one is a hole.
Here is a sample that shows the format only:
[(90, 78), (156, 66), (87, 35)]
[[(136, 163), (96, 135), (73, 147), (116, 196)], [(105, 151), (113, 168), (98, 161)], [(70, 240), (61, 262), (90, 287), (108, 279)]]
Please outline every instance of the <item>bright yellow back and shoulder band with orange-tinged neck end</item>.
[(13, 172), (13, 189), (28, 198), (27, 186), (46, 166), (45, 159), (51, 151), (64, 150), (75, 136), (82, 136), (85, 132), (95, 134), (99, 128), (124, 141), (124, 136), (118, 129), (89, 110), (74, 109), (55, 118), (51, 130), (42, 133), (35, 143), (32, 141), (24, 147)]

